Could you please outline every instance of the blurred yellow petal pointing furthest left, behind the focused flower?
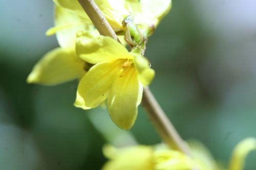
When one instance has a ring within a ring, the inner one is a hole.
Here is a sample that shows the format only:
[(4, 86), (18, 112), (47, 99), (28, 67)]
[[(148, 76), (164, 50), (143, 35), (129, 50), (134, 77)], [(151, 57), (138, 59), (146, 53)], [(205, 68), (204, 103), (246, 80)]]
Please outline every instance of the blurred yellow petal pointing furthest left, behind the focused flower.
[(74, 51), (55, 48), (37, 62), (27, 82), (55, 85), (77, 79), (84, 74), (84, 64)]

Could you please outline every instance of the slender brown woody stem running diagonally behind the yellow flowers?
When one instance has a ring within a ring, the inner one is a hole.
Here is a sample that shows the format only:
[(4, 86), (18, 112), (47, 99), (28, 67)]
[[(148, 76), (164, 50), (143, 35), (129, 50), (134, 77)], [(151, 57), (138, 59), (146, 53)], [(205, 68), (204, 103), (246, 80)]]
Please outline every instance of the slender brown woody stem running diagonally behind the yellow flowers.
[[(110, 36), (118, 41), (114, 30), (93, 0), (78, 0), (78, 2), (84, 11), (86, 11), (101, 35)], [(190, 155), (187, 144), (182, 140), (172, 123), (170, 123), (168, 117), (148, 87), (143, 89), (142, 105), (164, 142), (170, 147)]]

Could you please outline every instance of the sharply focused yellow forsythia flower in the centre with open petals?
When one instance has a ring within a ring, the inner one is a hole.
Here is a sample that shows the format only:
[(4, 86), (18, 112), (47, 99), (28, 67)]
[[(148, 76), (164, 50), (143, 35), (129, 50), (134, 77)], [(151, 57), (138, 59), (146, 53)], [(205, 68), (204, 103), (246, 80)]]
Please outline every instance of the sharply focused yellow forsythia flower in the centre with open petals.
[(91, 109), (108, 99), (113, 122), (121, 129), (130, 129), (137, 117), (142, 84), (150, 84), (155, 75), (148, 61), (129, 53), (110, 37), (89, 32), (77, 34), (76, 52), (82, 60), (95, 65), (80, 80), (74, 105)]

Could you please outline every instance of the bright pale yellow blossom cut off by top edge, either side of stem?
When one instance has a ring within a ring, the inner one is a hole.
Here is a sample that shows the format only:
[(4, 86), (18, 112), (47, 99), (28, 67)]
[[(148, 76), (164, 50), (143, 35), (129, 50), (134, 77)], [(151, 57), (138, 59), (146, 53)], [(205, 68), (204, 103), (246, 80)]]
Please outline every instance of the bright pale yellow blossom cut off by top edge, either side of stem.
[[(56, 5), (75, 12), (83, 20), (90, 20), (78, 1), (53, 1)], [(115, 31), (123, 30), (122, 21), (128, 15), (133, 15), (135, 23), (138, 25), (157, 27), (159, 21), (171, 7), (171, 0), (95, 0), (95, 3)]]

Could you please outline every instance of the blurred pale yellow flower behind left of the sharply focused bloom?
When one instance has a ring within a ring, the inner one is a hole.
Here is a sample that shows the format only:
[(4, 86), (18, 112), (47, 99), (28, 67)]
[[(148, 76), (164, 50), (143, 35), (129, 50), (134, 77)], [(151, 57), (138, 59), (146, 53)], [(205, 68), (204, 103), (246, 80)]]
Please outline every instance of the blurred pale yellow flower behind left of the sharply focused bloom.
[(81, 78), (86, 70), (87, 63), (81, 60), (75, 52), (76, 32), (91, 30), (97, 33), (92, 26), (80, 21), (72, 12), (55, 8), (55, 27), (47, 31), (47, 35), (56, 33), (60, 47), (48, 52), (34, 66), (28, 76), (28, 83), (55, 85), (77, 78)]

